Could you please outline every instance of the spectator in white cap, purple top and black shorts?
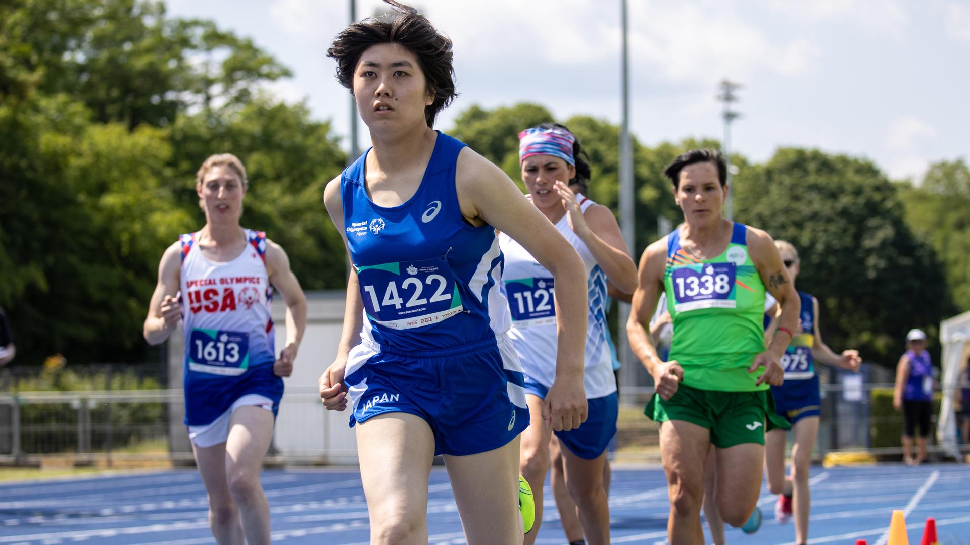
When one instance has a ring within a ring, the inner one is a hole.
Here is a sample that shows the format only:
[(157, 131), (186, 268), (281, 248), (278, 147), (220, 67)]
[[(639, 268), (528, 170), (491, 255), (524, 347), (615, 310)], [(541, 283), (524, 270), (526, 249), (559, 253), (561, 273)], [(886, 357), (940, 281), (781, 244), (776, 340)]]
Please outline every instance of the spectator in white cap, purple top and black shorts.
[[(933, 412), (933, 365), (926, 352), (926, 334), (910, 330), (906, 335), (906, 353), (896, 366), (896, 387), (892, 406), (903, 411), (903, 461), (906, 465), (920, 465), (926, 458), (926, 437)], [(917, 424), (917, 455), (913, 458), (913, 437)]]

